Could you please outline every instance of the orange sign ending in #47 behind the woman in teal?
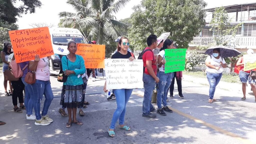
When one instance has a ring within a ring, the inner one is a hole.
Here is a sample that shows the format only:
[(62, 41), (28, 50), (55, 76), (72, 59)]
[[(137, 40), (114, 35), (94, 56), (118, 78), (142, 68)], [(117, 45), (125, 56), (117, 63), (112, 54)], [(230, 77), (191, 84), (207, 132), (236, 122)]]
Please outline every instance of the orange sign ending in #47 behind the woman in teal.
[(83, 57), (86, 68), (105, 67), (105, 45), (77, 44), (76, 54)]

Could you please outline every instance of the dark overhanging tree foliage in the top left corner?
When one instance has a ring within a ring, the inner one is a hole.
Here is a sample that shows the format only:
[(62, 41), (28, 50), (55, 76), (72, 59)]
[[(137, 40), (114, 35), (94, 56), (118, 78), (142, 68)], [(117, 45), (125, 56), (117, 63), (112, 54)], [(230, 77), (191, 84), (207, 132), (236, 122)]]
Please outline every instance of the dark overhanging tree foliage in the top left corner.
[[(19, 5), (20, 2), (22, 3)], [(6, 22), (15, 23), (17, 21), (16, 17), (28, 12), (34, 13), (36, 7), (41, 5), (39, 0), (0, 0), (0, 18)]]

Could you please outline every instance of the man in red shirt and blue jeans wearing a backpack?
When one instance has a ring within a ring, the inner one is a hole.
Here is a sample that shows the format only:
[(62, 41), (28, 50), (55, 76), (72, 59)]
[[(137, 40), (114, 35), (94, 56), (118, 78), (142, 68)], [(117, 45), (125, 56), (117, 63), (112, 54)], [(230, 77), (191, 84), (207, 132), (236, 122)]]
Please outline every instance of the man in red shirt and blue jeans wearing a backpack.
[(147, 45), (144, 49), (147, 50), (142, 55), (143, 67), (145, 71), (143, 73), (143, 83), (144, 83), (144, 97), (143, 97), (143, 117), (155, 118), (156, 114), (152, 114), (151, 111), (155, 110), (151, 104), (152, 92), (155, 87), (155, 83), (159, 82), (159, 78), (156, 76), (156, 59), (153, 54), (153, 49), (157, 46), (156, 35), (150, 35), (147, 38)]

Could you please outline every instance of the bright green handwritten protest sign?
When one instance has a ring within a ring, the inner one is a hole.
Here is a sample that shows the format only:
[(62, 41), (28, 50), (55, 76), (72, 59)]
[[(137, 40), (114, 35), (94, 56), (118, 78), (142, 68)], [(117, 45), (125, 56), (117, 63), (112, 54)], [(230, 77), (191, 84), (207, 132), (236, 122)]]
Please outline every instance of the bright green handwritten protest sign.
[(186, 48), (165, 49), (165, 74), (185, 69), (186, 50)]

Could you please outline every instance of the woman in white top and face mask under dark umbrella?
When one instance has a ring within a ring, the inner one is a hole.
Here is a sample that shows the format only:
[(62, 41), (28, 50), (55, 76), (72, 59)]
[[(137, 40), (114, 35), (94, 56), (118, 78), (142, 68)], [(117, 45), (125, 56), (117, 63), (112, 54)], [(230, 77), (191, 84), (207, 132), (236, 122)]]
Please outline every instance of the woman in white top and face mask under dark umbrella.
[(223, 69), (226, 68), (227, 64), (225, 59), (220, 57), (220, 49), (213, 49), (212, 55), (208, 56), (205, 60), (206, 65), (206, 76), (210, 85), (209, 89), (209, 103), (215, 101), (213, 98), (216, 86), (219, 84)]

